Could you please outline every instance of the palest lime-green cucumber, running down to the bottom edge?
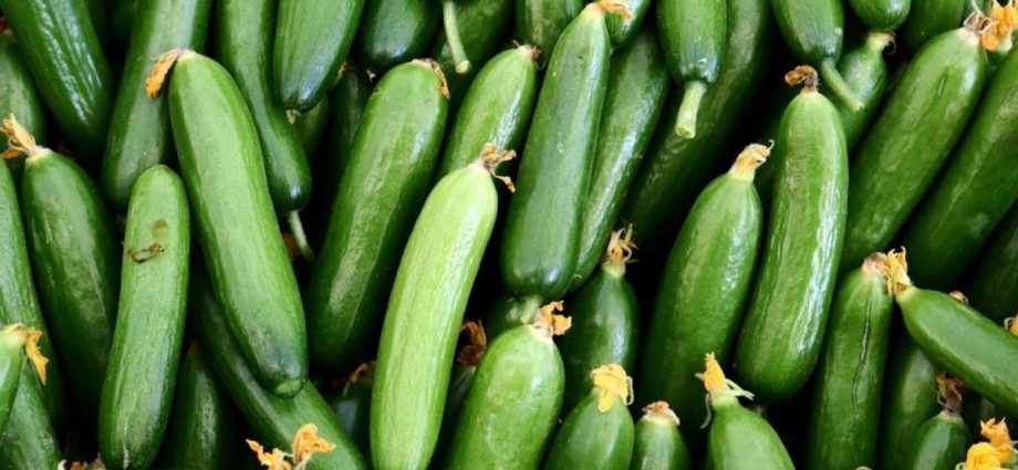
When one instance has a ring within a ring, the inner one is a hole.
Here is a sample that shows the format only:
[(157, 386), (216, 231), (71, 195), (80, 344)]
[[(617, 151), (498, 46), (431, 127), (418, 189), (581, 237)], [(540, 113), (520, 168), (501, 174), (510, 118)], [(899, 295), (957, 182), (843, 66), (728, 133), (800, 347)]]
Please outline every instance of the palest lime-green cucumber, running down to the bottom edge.
[(489, 154), (443, 178), (406, 242), (371, 398), (378, 470), (424, 469), (435, 451), (457, 332), (495, 228), (498, 195), (488, 168), (499, 160)]

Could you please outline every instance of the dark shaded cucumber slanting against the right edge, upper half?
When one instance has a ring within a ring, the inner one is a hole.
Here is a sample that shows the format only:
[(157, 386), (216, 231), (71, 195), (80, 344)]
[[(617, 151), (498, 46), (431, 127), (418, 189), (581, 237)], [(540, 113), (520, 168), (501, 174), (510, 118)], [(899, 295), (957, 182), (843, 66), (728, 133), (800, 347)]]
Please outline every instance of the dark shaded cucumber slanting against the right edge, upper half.
[(1018, 126), (1016, 85), (1018, 55), (1009, 55), (989, 82), (951, 163), (901, 236), (918, 285), (954, 288), (994, 227), (1018, 201), (1018, 170), (1012, 165), (1018, 157), (1018, 136), (1012, 132)]

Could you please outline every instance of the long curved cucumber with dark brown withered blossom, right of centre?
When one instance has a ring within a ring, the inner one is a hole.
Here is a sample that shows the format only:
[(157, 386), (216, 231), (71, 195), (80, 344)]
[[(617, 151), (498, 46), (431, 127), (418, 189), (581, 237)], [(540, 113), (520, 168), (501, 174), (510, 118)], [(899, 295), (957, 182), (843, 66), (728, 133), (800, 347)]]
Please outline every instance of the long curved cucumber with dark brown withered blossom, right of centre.
[(797, 67), (786, 80), (807, 83), (785, 111), (775, 139), (781, 167), (735, 355), (737, 376), (766, 405), (790, 399), (817, 364), (849, 199), (849, 157), (838, 109), (817, 92), (811, 67)]

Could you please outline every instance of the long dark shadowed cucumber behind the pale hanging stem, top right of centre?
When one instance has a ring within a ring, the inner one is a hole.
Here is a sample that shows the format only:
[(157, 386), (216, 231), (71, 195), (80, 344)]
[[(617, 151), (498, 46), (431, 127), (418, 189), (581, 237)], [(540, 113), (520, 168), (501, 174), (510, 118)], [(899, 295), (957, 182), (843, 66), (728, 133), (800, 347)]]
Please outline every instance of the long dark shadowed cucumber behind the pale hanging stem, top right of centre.
[[(621, 213), (636, 227), (635, 240), (645, 255), (665, 258), (683, 218), (725, 155), (770, 62), (773, 45), (770, 4), (742, 0), (728, 4), (728, 41), (721, 71), (704, 95), (697, 115), (697, 137), (675, 134), (679, 100), (676, 93), (663, 111), (645, 161), (641, 165)], [(676, 404), (673, 404), (676, 405)]]

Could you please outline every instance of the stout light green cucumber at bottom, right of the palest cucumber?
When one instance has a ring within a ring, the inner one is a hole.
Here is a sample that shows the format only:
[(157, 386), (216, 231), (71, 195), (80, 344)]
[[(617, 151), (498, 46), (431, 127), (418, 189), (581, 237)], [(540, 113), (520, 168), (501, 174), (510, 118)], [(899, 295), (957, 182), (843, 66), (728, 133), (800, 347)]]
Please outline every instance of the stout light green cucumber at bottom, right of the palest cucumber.
[(509, 330), (485, 352), (444, 468), (536, 469), (541, 463), (565, 385), (552, 337), (569, 330), (569, 320), (552, 315), (554, 305), (542, 309), (537, 323)]

